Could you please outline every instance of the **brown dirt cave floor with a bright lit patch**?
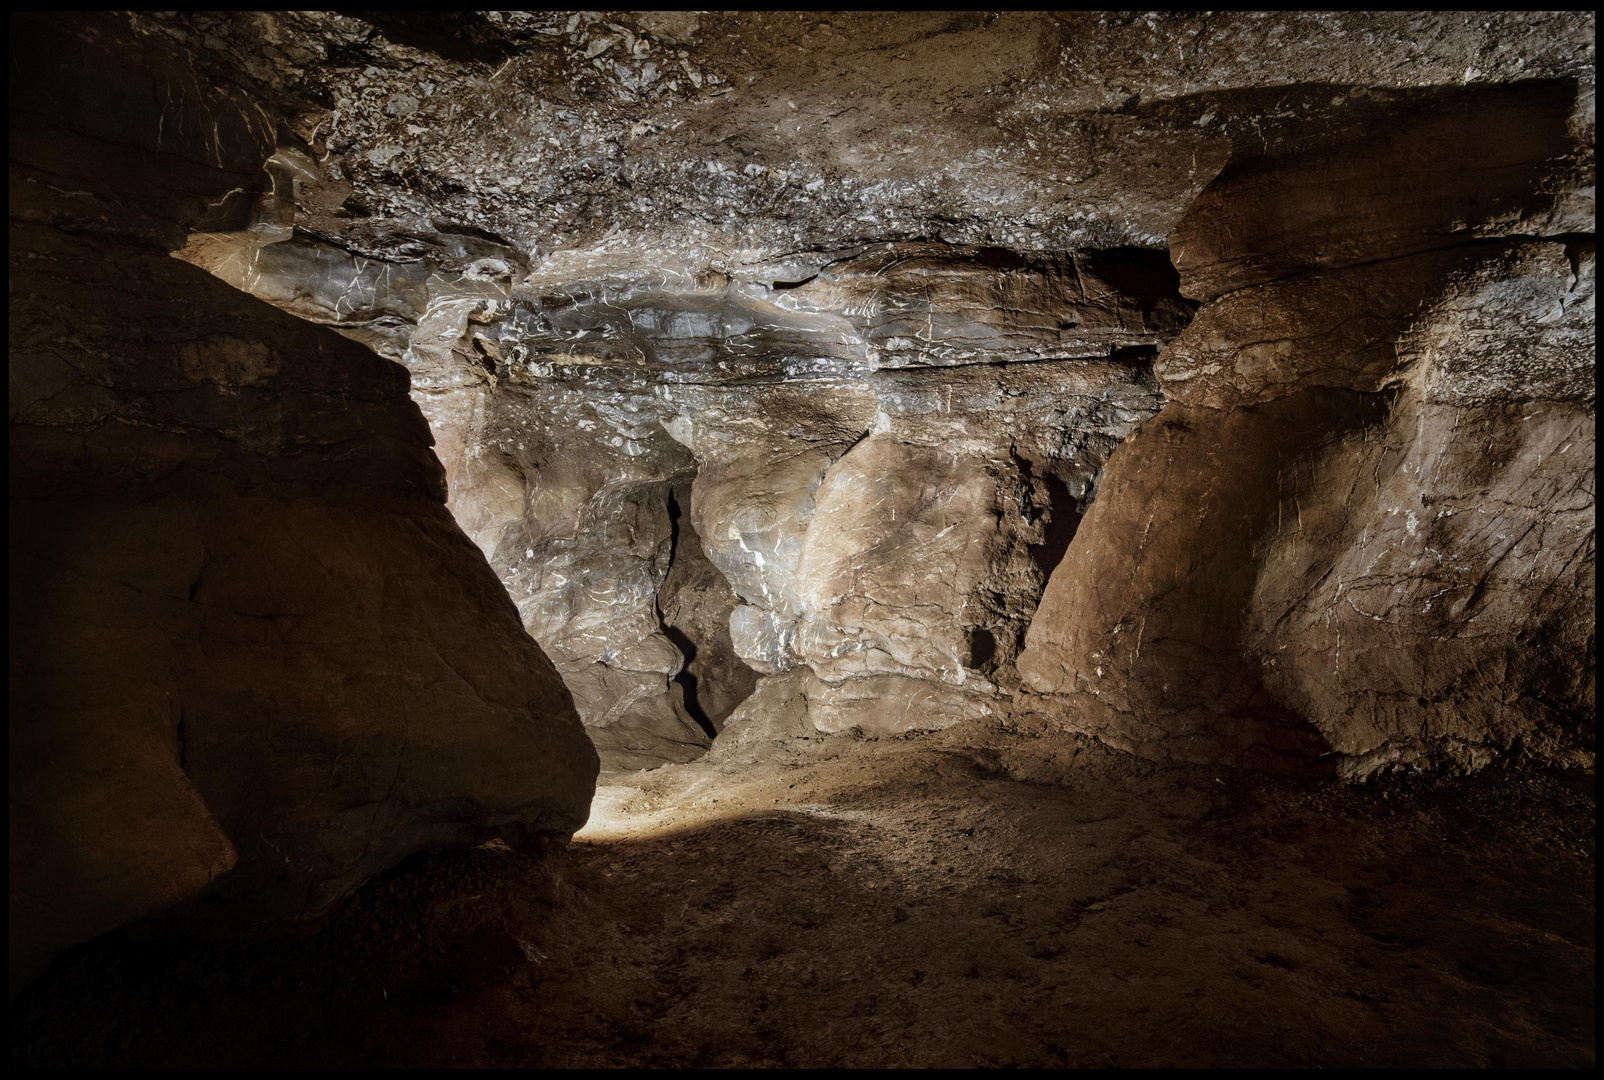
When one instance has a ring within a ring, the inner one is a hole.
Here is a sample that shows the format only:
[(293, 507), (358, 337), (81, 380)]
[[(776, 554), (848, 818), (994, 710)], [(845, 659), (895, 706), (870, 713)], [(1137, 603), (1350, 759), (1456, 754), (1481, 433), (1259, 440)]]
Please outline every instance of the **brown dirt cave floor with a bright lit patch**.
[(1593, 1064), (1591, 777), (966, 725), (605, 780), (560, 852), (419, 857), (294, 936), (91, 942), (13, 1064)]

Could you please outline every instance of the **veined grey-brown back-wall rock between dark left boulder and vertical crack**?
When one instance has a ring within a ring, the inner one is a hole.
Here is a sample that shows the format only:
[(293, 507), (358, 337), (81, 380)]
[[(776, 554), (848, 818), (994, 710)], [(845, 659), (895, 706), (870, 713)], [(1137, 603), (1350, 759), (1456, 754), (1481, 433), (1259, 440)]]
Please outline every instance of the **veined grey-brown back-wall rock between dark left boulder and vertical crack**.
[[(707, 735), (678, 696), (683, 658), (658, 611), (674, 557), (669, 499), (690, 454), (642, 388), (603, 395), (553, 380), (484, 401), (476, 467), (516, 496), (500, 515), (486, 507), (478, 536), (592, 738), (613, 767), (701, 754)], [(481, 489), (459, 483), (457, 505)]]

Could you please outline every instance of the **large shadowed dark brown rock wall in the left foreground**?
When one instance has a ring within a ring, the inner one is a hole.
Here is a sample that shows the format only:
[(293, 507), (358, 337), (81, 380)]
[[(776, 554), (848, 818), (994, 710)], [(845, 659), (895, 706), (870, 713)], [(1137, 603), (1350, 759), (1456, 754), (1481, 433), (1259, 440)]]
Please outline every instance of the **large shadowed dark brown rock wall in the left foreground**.
[(595, 751), (406, 374), (165, 254), (271, 125), (114, 18), (11, 61), (13, 992), (202, 892), (298, 916), (573, 833)]

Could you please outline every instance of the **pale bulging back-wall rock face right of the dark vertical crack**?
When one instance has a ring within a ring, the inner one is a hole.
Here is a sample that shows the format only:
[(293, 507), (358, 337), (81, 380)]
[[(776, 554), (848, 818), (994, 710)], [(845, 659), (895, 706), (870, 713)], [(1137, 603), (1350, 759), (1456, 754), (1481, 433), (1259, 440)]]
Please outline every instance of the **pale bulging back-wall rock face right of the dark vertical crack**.
[(736, 652), (831, 680), (1007, 684), (1041, 591), (1033, 555), (1158, 406), (1147, 379), (1060, 361), (701, 390), (670, 424), (701, 462), (698, 533), (746, 600)]

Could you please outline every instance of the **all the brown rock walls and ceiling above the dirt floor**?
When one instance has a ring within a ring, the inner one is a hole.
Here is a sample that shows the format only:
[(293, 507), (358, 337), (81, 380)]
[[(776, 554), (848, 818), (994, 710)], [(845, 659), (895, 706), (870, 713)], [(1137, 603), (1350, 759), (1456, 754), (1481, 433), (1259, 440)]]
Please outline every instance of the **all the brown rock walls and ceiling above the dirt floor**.
[(11, 37), (24, 979), (597, 753), (1591, 765), (1591, 14)]

